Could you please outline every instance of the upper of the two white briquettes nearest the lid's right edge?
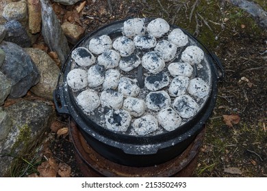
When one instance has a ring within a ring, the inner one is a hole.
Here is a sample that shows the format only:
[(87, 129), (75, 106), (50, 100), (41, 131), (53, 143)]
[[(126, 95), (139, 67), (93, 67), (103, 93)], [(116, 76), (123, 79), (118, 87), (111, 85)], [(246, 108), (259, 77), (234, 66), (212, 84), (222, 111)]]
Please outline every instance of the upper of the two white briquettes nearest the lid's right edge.
[(181, 53), (181, 60), (191, 65), (199, 64), (204, 59), (204, 52), (198, 46), (188, 46)]

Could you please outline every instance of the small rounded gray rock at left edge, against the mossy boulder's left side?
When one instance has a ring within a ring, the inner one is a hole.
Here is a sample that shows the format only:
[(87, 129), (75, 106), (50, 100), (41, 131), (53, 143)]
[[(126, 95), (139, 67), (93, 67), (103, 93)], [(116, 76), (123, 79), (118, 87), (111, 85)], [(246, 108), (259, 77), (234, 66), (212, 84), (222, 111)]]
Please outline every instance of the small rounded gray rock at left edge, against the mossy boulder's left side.
[(10, 121), (8, 114), (5, 111), (0, 110), (0, 143), (7, 138), (11, 126), (12, 122)]

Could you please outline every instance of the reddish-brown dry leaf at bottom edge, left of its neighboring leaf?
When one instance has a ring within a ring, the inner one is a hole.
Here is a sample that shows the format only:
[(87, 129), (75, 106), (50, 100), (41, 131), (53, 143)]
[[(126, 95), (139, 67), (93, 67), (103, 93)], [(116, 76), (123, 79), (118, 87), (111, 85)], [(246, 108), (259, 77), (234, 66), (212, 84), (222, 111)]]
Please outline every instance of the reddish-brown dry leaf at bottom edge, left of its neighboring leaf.
[(49, 158), (48, 161), (42, 162), (37, 167), (37, 171), (40, 173), (40, 177), (56, 177), (58, 166), (53, 158)]

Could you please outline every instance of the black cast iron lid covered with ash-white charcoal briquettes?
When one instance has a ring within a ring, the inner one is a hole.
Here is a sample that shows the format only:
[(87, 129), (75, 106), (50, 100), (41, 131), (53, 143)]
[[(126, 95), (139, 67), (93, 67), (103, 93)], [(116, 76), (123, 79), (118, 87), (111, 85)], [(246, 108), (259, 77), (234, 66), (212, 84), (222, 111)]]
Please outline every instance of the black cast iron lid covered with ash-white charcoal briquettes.
[[(131, 25), (139, 31), (129, 34)], [(160, 18), (120, 20), (71, 50), (56, 107), (101, 143), (156, 153), (200, 132), (222, 75), (218, 59), (183, 29)]]

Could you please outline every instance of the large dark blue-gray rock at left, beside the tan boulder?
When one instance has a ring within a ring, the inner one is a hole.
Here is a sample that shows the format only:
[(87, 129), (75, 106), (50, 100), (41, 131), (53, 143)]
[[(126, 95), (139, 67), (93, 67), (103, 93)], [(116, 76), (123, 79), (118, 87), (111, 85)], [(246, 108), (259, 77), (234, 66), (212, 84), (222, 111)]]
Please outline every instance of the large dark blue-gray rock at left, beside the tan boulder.
[(31, 57), (20, 46), (12, 42), (1, 42), (0, 48), (5, 52), (5, 61), (0, 71), (11, 80), (11, 98), (21, 98), (36, 85), (40, 74)]

